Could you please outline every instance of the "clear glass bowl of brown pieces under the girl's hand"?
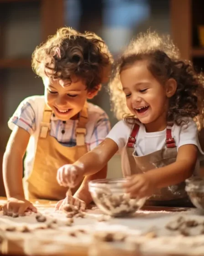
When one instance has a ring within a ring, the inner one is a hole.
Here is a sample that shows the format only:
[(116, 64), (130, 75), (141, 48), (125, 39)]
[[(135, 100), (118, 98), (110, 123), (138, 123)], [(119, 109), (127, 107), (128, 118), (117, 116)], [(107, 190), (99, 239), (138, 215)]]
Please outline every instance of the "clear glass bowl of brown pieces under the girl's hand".
[(146, 202), (144, 198), (133, 198), (123, 188), (127, 179), (101, 179), (89, 182), (89, 191), (94, 203), (105, 214), (112, 217), (132, 215)]

